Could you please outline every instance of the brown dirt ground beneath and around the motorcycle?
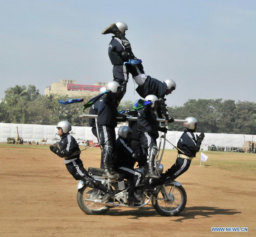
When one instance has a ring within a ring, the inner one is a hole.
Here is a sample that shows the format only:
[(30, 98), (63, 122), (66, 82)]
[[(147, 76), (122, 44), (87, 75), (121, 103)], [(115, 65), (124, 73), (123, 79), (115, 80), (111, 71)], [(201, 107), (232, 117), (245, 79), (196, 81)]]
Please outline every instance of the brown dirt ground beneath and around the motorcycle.
[[(0, 144), (0, 236), (256, 236), (255, 170), (219, 168), (224, 153), (205, 153), (204, 166), (192, 161), (177, 181), (187, 192), (187, 205), (177, 217), (162, 217), (148, 205), (112, 208), (87, 215), (76, 202), (77, 181), (48, 145)], [(176, 151), (167, 152), (169, 168)], [(98, 167), (100, 148), (82, 152), (85, 168)], [(227, 159), (230, 159), (227, 157)], [(235, 160), (255, 162), (256, 154)], [(247, 227), (248, 232), (214, 233), (211, 227)]]

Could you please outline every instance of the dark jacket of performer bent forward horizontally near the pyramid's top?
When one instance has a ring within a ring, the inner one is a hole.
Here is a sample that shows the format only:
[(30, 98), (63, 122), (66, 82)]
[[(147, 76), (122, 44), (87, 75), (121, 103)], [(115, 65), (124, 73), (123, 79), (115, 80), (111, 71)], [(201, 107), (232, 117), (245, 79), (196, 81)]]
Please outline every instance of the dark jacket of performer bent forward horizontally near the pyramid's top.
[(157, 98), (164, 98), (167, 85), (164, 81), (147, 76), (144, 84), (136, 88), (137, 93), (145, 98), (148, 95), (155, 95)]

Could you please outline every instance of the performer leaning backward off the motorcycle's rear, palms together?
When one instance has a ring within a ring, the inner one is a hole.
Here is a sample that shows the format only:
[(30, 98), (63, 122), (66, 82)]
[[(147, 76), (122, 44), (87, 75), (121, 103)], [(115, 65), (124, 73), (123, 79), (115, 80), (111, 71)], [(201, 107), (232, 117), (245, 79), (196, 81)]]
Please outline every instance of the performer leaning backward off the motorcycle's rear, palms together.
[(59, 157), (64, 158), (64, 163), (67, 170), (76, 180), (82, 180), (87, 185), (93, 186), (103, 192), (105, 197), (102, 201), (106, 201), (110, 197), (114, 196), (114, 193), (106, 188), (100, 181), (95, 180), (84, 168), (82, 161), (80, 160), (80, 149), (73, 138), (69, 134), (71, 131), (71, 124), (68, 121), (60, 121), (57, 124), (58, 134), (61, 137), (59, 141), (59, 148), (51, 145), (50, 150), (57, 154)]

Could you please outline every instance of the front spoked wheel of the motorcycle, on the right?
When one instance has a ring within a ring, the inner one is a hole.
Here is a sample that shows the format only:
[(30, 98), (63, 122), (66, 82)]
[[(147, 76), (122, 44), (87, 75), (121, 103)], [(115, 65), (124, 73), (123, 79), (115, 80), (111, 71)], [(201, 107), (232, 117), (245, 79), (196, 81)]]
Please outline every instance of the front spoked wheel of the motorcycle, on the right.
[(166, 198), (165, 190), (160, 186), (158, 193), (152, 198), (152, 205), (162, 216), (176, 216), (186, 206), (187, 194), (182, 186), (174, 184), (165, 184), (169, 200)]

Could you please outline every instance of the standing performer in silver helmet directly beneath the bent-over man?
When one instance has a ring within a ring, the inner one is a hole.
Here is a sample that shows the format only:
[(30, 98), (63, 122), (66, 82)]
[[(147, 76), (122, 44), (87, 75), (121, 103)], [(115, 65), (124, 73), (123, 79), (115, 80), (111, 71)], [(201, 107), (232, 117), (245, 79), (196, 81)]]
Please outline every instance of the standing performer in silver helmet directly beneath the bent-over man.
[(152, 105), (147, 105), (138, 111), (137, 116), (137, 130), (140, 136), (143, 150), (147, 155), (148, 172), (145, 177), (159, 179), (154, 172), (155, 156), (158, 152), (156, 139), (159, 137), (158, 131), (167, 132), (166, 127), (160, 127), (154, 111), (158, 107), (158, 98), (155, 95), (148, 95), (146, 101), (153, 102)]

